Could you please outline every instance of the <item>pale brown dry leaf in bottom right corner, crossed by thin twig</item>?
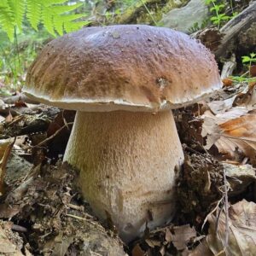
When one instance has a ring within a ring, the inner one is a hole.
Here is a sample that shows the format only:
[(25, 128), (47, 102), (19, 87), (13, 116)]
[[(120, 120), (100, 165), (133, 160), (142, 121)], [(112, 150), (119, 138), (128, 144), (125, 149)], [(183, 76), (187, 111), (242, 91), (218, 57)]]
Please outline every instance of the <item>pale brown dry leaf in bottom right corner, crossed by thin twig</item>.
[[(256, 248), (256, 204), (240, 201), (229, 210), (229, 243), (225, 248), (226, 256), (255, 255)], [(217, 219), (213, 214), (208, 217), (210, 223), (207, 245), (214, 255), (224, 250), (225, 214)], [(218, 230), (216, 226), (218, 221)]]

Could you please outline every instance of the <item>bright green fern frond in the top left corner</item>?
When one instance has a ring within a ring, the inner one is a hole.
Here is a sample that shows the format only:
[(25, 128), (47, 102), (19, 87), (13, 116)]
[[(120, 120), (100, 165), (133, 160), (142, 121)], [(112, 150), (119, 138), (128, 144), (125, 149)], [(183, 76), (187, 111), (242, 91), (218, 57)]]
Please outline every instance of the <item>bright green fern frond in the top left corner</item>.
[(22, 24), (28, 20), (30, 26), (38, 31), (38, 25), (56, 36), (63, 32), (72, 32), (89, 23), (89, 21), (75, 21), (84, 14), (70, 14), (83, 3), (68, 4), (68, 0), (1, 0), (0, 26), (8, 34), (11, 41), (15, 39), (15, 32), (22, 31)]

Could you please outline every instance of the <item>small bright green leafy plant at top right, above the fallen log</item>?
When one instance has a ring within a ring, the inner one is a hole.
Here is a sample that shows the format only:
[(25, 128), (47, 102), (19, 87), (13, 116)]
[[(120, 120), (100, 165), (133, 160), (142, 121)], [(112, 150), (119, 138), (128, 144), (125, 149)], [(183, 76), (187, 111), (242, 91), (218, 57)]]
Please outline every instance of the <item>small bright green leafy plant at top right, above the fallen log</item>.
[[(210, 7), (210, 12), (212, 14), (210, 20), (212, 24), (222, 26), (226, 21), (232, 19), (237, 13), (232, 13), (232, 15), (226, 15), (224, 13), (225, 4), (218, 0), (206, 0), (207, 5)], [(233, 7), (232, 7), (233, 8)]]

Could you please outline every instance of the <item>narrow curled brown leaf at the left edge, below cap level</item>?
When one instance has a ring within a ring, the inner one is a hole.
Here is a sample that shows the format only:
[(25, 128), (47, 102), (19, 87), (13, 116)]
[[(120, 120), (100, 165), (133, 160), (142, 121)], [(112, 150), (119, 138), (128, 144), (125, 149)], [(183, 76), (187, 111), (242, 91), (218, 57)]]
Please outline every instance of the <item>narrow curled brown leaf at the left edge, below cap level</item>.
[(3, 195), (3, 183), (5, 176), (5, 167), (7, 165), (7, 160), (9, 159), (9, 154), (13, 148), (14, 141), (4, 141), (0, 143), (0, 195)]

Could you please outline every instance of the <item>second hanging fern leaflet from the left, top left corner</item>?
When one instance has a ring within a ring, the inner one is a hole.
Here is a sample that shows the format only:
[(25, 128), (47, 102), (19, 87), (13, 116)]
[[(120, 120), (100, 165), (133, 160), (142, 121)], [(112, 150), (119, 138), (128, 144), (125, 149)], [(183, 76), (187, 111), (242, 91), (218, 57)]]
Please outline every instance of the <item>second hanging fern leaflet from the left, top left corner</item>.
[(14, 24), (18, 26), (21, 31), (23, 16), (25, 14), (25, 0), (9, 0), (8, 3), (13, 13)]

